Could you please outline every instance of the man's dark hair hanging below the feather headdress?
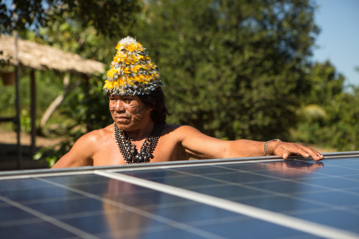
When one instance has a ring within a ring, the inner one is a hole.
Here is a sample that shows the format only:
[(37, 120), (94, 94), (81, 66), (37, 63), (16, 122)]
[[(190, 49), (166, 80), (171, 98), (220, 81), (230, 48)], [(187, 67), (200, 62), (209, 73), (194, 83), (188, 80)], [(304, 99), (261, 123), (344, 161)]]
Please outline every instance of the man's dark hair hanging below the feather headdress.
[(163, 123), (166, 120), (166, 116), (171, 115), (168, 113), (167, 99), (161, 87), (157, 87), (150, 94), (138, 95), (138, 97), (145, 105), (153, 108), (151, 118), (155, 123)]

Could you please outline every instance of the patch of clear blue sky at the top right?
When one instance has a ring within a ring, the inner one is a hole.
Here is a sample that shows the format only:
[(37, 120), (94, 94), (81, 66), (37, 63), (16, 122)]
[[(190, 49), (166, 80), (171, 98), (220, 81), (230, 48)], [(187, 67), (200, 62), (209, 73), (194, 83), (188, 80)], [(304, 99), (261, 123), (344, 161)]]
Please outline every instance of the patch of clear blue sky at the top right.
[(359, 85), (359, 0), (314, 0), (319, 8), (315, 21), (321, 28), (313, 60), (330, 59), (346, 83)]

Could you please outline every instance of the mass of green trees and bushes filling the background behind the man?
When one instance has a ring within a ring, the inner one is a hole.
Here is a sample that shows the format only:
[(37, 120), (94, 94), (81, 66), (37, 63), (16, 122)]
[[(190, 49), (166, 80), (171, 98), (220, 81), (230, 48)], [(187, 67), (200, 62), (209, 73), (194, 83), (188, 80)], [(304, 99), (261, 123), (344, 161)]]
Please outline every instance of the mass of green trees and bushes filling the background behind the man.
[[(169, 123), (229, 140), (281, 138), (359, 150), (358, 87), (345, 91), (344, 76), (329, 61), (309, 61), (319, 32), (312, 1), (155, 0), (142, 9), (139, 0), (14, 2), (14, 11), (0, 4), (1, 32), (11, 32), (17, 12), (38, 26), (32, 32), (17, 24), (23, 38), (105, 64), (118, 40), (137, 37), (161, 69)], [(29, 130), (29, 74), (20, 75), (22, 124)], [(38, 117), (61, 94), (63, 77), (36, 72)], [(71, 76), (71, 85), (80, 77)], [(66, 140), (36, 159), (52, 166), (81, 135), (111, 124), (102, 86), (101, 78), (81, 78), (52, 117), (54, 132)], [(2, 116), (14, 104), (13, 88), (1, 86)]]

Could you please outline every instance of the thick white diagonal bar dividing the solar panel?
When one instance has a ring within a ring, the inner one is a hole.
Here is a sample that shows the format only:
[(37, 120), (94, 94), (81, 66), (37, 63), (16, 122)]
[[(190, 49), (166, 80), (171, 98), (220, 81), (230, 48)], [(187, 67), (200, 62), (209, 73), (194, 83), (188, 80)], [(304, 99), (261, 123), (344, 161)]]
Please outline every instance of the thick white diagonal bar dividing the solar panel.
[(197, 202), (201, 202), (203, 204), (215, 206), (228, 211), (237, 212), (239, 214), (250, 216), (252, 218), (268, 221), (270, 223), (285, 226), (291, 229), (303, 231), (305, 233), (321, 236), (324, 238), (358, 239), (359, 237), (359, 234), (351, 233), (349, 231), (333, 228), (331, 226), (326, 226), (303, 219), (294, 218), (292, 216), (279, 214), (276, 212), (260, 209), (249, 205), (240, 204), (238, 202), (233, 202), (226, 199), (220, 199), (218, 197), (185, 190), (183, 188), (173, 187), (158, 182), (152, 182), (137, 177), (132, 177), (132, 176), (113, 173), (113, 172), (106, 172), (102, 170), (95, 170), (94, 173), (101, 176), (139, 185), (142, 187), (148, 187), (153, 190), (169, 193), (175, 196), (184, 197), (189, 200), (194, 200)]

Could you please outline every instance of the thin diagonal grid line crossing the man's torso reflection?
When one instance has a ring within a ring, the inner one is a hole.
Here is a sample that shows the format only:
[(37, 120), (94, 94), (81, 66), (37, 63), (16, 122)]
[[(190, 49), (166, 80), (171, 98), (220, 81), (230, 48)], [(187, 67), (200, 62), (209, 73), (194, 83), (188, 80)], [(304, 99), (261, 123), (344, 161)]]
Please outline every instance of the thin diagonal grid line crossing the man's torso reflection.
[[(95, 170), (95, 172), (96, 172), (96, 170)], [(202, 236), (204, 238), (208, 238), (208, 239), (226, 239), (223, 236), (216, 235), (216, 234), (213, 234), (213, 233), (210, 233), (208, 231), (201, 230), (201, 229), (198, 229), (198, 228), (194, 228), (192, 226), (189, 226), (189, 225), (186, 225), (186, 224), (183, 224), (183, 223), (179, 223), (177, 221), (174, 221), (174, 220), (171, 220), (171, 219), (168, 219), (168, 218), (164, 218), (162, 216), (158, 216), (158, 215), (152, 214), (150, 212), (146, 212), (146, 211), (143, 211), (141, 209), (137, 209), (137, 208), (132, 207), (132, 206), (124, 205), (124, 204), (122, 204), (120, 202), (105, 199), (105, 198), (103, 198), (101, 196), (93, 195), (92, 193), (84, 192), (84, 191), (78, 190), (76, 188), (72, 188), (72, 187), (69, 187), (69, 186), (66, 186), (66, 185), (62, 185), (60, 183), (52, 182), (52, 181), (46, 180), (44, 178), (37, 178), (37, 179), (41, 180), (41, 181), (44, 181), (44, 182), (51, 183), (51, 184), (53, 184), (55, 186), (65, 188), (65, 189), (73, 191), (73, 192), (83, 194), (83, 195), (85, 195), (87, 197), (90, 197), (90, 198), (93, 198), (93, 199), (96, 199), (96, 200), (99, 200), (99, 201), (106, 202), (106, 203), (111, 204), (113, 206), (120, 207), (120, 208), (122, 208), (124, 210), (139, 214), (141, 216), (145, 216), (146, 218), (150, 218), (150, 219), (153, 219), (153, 220), (156, 220), (156, 221), (160, 221), (160, 222), (162, 222), (164, 224), (173, 226), (173, 227), (181, 229), (181, 230), (188, 231), (188, 232), (190, 232), (192, 234), (199, 235), (199, 236)]]

